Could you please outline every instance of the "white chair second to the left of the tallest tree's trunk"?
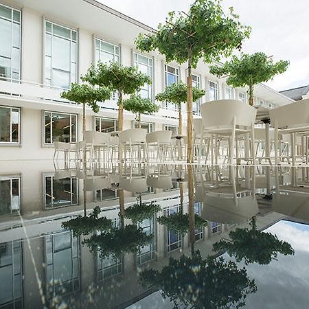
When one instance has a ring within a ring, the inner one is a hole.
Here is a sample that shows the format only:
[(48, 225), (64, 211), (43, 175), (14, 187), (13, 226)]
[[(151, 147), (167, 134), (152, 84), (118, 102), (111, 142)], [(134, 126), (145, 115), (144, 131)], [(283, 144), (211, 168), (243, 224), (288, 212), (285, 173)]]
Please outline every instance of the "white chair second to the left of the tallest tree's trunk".
[[(143, 150), (143, 159), (148, 159), (148, 150), (146, 143), (147, 130), (142, 128), (133, 128), (119, 133), (119, 151), (124, 152), (126, 161), (126, 152), (130, 153), (130, 159), (138, 159), (141, 162), (141, 150)], [(137, 156), (135, 156), (137, 154)]]

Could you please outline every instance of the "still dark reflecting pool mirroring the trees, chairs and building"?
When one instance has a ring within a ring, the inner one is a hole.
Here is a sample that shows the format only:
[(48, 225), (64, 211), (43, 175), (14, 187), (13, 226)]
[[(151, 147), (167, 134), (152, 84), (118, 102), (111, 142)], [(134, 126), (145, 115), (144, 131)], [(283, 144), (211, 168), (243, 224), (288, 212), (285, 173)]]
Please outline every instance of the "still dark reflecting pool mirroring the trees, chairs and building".
[(0, 162), (0, 308), (307, 308), (309, 168)]

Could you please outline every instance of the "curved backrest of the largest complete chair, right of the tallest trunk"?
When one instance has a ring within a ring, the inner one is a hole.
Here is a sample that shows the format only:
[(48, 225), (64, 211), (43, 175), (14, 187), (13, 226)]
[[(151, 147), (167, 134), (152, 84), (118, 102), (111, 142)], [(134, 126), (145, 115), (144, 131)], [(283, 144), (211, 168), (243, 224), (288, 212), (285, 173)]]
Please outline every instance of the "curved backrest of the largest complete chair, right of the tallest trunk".
[(238, 100), (218, 100), (201, 105), (204, 128), (231, 126), (233, 117), (236, 126), (251, 126), (255, 122), (256, 108)]

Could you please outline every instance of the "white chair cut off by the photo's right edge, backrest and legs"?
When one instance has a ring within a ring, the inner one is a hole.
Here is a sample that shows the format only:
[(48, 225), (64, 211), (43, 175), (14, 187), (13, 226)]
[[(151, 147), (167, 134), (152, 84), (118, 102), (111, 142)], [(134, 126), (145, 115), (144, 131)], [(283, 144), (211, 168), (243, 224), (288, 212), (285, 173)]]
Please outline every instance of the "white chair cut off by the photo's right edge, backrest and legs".
[(295, 165), (296, 134), (309, 135), (309, 99), (293, 102), (269, 112), (275, 128), (275, 164), (279, 164), (278, 134), (290, 134), (290, 157)]

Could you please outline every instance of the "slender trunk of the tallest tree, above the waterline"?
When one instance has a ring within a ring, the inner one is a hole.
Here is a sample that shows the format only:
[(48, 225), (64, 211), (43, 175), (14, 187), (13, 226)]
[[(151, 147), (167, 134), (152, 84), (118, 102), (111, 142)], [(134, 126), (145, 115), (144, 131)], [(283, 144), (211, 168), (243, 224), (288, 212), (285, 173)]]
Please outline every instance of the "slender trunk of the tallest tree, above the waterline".
[(192, 50), (189, 49), (187, 61), (187, 163), (193, 162), (193, 113), (192, 113)]

